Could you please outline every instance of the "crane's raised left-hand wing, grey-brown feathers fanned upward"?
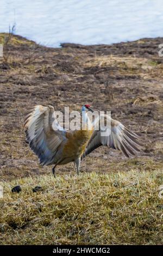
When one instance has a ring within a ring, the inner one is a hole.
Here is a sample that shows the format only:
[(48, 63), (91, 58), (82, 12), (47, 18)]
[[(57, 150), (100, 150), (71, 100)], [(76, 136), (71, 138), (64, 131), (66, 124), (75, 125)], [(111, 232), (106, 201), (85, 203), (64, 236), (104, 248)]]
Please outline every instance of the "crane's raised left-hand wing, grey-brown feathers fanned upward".
[(60, 144), (66, 139), (66, 131), (55, 118), (54, 107), (37, 105), (26, 113), (23, 129), (29, 147), (39, 157), (42, 165), (53, 162)]

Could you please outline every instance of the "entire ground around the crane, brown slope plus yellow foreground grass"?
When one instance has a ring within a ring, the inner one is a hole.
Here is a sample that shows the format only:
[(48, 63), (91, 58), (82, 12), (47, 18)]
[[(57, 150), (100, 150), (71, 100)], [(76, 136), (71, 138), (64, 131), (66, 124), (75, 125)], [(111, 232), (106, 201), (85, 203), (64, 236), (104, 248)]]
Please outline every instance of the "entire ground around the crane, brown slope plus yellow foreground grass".
[[(0, 34), (0, 44), (5, 36)], [(11, 38), (7, 61), (0, 59), (1, 243), (162, 243), (161, 42), (53, 49)], [(22, 132), (23, 113), (40, 103), (59, 110), (79, 110), (84, 103), (109, 109), (140, 133), (145, 148), (129, 160), (99, 148), (82, 162), (87, 174), (76, 177), (68, 164), (58, 167), (53, 179), (51, 167), (39, 166)], [(11, 194), (17, 184), (22, 193)], [(34, 194), (36, 185), (44, 191)]]

